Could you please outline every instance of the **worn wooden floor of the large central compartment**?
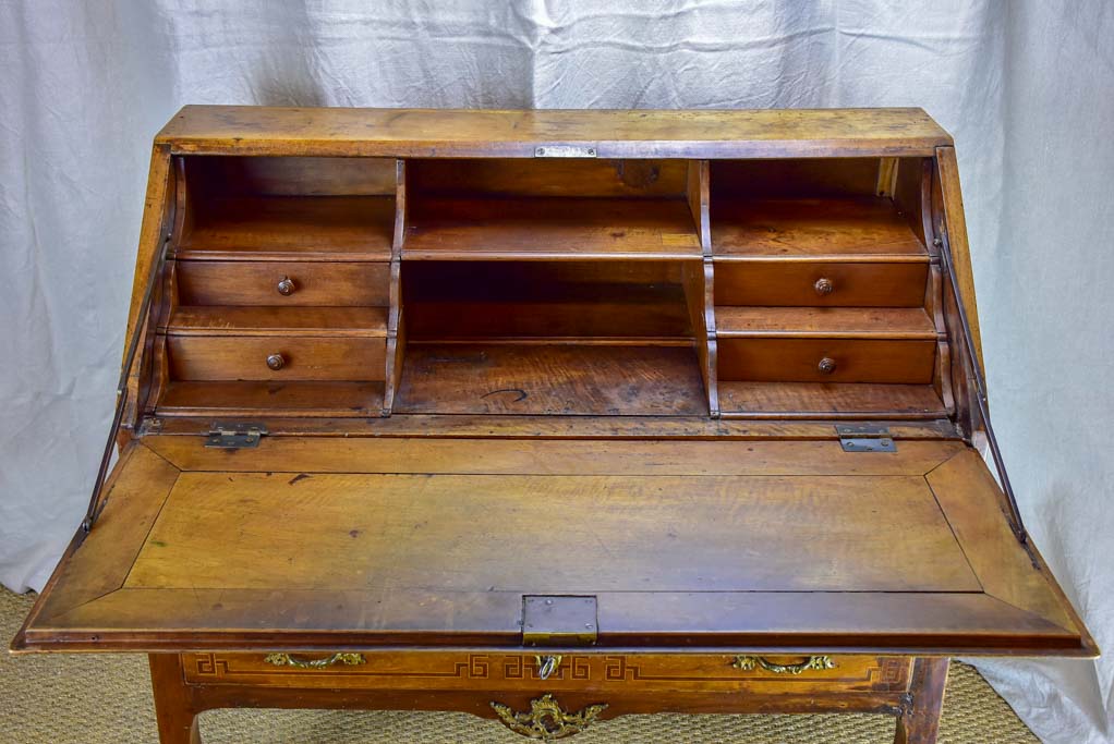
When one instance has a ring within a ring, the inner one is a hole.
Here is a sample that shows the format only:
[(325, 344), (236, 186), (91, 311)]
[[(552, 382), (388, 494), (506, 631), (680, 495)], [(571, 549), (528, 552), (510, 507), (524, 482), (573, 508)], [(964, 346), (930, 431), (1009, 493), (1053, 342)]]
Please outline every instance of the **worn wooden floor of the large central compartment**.
[(393, 410), (707, 415), (707, 401), (691, 347), (411, 342)]

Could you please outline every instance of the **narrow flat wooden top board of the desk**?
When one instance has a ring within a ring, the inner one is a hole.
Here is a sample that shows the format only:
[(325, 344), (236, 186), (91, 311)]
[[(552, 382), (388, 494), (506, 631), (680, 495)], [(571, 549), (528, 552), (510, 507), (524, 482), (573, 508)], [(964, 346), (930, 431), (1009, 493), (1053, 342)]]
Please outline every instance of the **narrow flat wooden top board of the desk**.
[(156, 136), (180, 153), (600, 158), (934, 155), (951, 137), (919, 108), (750, 111), (422, 110), (186, 106)]

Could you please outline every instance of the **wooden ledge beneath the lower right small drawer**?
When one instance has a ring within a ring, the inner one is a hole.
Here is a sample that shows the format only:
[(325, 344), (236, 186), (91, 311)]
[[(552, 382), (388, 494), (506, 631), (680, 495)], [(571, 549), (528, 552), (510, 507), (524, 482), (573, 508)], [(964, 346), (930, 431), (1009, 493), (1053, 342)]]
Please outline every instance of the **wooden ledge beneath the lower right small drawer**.
[(930, 384), (720, 381), (724, 417), (776, 419), (939, 419), (944, 402)]

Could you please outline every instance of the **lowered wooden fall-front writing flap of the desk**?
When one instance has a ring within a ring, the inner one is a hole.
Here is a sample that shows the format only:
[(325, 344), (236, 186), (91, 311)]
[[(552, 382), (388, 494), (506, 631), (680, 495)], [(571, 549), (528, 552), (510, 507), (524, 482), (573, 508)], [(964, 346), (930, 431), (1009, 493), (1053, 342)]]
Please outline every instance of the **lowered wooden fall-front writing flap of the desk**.
[(1086, 655), (967, 444), (270, 435), (133, 442), (17, 650), (598, 647)]

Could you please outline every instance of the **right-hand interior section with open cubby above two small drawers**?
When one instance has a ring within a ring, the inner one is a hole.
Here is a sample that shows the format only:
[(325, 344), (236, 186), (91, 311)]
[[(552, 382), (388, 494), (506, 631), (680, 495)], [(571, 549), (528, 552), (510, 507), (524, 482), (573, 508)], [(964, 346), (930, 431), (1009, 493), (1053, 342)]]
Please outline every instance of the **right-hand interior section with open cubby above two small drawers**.
[(920, 158), (711, 164), (724, 417), (938, 418)]

